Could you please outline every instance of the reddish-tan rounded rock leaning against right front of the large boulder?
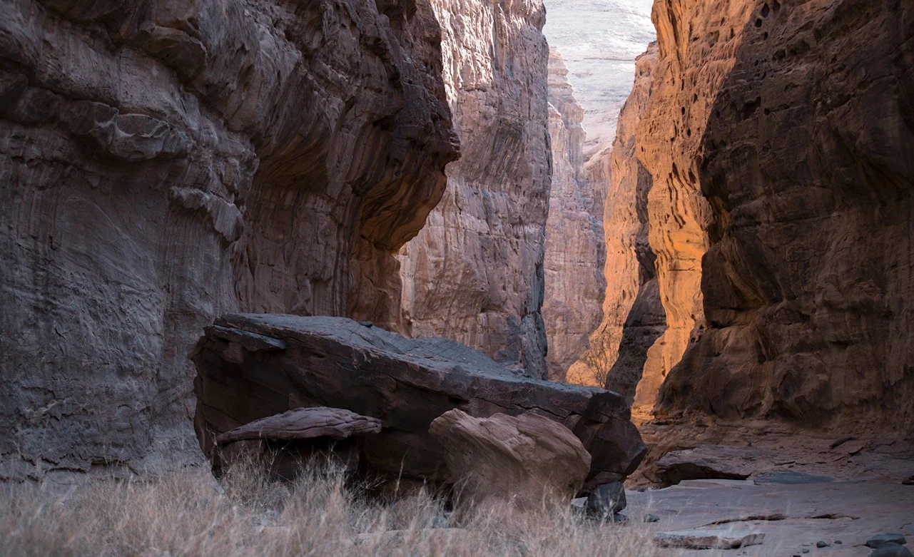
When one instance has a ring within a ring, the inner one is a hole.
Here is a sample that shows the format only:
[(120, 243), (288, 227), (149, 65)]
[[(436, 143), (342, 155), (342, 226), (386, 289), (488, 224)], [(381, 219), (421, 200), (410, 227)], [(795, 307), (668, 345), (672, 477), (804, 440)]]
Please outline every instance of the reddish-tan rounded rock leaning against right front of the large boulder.
[(431, 422), (430, 432), (444, 447), (458, 499), (473, 506), (568, 504), (590, 470), (578, 437), (541, 415), (475, 418), (454, 409)]

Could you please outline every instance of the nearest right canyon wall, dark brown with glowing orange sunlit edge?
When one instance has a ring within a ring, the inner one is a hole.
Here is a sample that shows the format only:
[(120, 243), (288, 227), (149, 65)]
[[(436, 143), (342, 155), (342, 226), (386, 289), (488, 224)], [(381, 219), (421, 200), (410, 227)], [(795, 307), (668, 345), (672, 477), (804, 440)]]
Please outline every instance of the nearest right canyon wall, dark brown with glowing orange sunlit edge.
[(636, 154), (668, 328), (635, 405), (910, 436), (914, 5), (671, 0), (654, 23)]

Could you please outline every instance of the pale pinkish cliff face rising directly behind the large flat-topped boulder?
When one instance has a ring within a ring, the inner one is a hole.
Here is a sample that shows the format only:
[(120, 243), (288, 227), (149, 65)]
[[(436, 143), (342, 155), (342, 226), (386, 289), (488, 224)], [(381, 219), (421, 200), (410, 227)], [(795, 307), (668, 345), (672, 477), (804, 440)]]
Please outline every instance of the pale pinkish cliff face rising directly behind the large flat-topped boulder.
[(399, 253), (403, 331), (463, 342), (545, 378), (545, 10), (541, 0), (433, 5), (462, 158), (448, 165), (428, 224)]

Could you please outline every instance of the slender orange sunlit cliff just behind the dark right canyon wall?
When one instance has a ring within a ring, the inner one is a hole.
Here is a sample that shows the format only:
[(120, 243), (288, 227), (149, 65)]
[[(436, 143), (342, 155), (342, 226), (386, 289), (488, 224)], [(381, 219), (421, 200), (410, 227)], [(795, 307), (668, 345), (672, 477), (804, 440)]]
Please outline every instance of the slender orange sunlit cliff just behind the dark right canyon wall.
[(632, 94), (619, 114), (611, 152), (588, 164), (593, 181), (610, 184), (603, 222), (606, 290), (602, 322), (590, 336), (590, 349), (569, 370), (575, 383), (605, 385), (629, 404), (643, 369), (654, 365), (647, 363), (648, 351), (665, 329), (655, 256), (648, 243), (651, 174), (635, 156), (635, 130), (651, 93), (656, 62), (653, 43), (636, 61)]

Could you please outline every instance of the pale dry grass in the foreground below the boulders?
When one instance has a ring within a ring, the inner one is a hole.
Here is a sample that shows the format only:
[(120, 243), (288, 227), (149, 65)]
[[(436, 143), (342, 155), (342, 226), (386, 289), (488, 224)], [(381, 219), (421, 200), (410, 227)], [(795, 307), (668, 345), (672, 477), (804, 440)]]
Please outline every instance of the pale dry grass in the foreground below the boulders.
[[(640, 523), (605, 524), (569, 510), (497, 510), (447, 525), (426, 493), (379, 501), (337, 470), (291, 484), (233, 469), (97, 481), (54, 492), (0, 486), (0, 555), (606, 555), (656, 551)], [(391, 532), (394, 531), (394, 532)]]

